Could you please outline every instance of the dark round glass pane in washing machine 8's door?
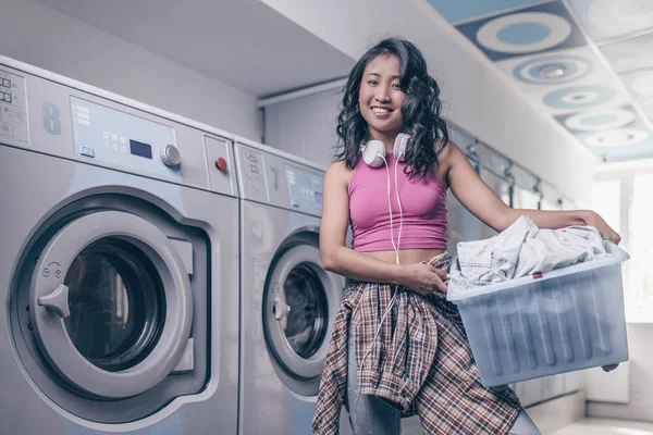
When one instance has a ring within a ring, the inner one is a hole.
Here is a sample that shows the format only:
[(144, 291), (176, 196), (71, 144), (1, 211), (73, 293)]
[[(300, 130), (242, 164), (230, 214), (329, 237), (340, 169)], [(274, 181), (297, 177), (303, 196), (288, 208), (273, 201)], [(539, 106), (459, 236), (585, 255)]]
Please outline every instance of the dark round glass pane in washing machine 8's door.
[(130, 369), (153, 349), (165, 315), (163, 284), (138, 248), (103, 238), (75, 257), (63, 279), (65, 331), (79, 353), (109, 372)]

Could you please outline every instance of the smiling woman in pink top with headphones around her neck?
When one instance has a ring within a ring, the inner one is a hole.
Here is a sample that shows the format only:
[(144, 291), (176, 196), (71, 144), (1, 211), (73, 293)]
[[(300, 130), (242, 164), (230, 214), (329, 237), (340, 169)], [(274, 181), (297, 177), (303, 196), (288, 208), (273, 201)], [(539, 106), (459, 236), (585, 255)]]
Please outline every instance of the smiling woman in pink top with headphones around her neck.
[(345, 86), (343, 149), (324, 177), (320, 251), (324, 269), (348, 283), (316, 433), (337, 432), (343, 401), (354, 434), (398, 434), (401, 418), (416, 413), (424, 433), (538, 433), (510, 388), (481, 385), (459, 314), (445, 299), (448, 188), (497, 232), (526, 215), (541, 228), (591, 225), (619, 243), (592, 211), (508, 208), (447, 139), (439, 96), (420, 51), (398, 39), (364, 54)]

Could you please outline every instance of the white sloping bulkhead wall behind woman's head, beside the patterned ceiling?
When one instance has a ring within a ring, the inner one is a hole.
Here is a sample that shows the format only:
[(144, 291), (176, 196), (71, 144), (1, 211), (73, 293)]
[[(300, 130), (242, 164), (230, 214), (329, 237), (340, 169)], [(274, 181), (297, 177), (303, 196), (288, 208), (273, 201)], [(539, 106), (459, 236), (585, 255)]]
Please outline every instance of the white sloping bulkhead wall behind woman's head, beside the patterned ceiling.
[(408, 38), (441, 85), (445, 116), (589, 206), (591, 153), (537, 112), (471, 42), (424, 8), (424, 0), (261, 1), (355, 59), (382, 36)]

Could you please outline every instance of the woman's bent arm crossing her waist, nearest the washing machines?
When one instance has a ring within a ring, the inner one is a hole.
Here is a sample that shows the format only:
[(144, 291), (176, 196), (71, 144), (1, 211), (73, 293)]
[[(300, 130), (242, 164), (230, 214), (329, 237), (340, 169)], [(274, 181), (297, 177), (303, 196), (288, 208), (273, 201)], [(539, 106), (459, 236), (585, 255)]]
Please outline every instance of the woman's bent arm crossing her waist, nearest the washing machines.
[(428, 264), (391, 264), (347, 248), (345, 239), (349, 224), (349, 171), (343, 162), (332, 163), (324, 175), (320, 256), (322, 266), (354, 279), (390, 283), (429, 293), (446, 290), (435, 268)]

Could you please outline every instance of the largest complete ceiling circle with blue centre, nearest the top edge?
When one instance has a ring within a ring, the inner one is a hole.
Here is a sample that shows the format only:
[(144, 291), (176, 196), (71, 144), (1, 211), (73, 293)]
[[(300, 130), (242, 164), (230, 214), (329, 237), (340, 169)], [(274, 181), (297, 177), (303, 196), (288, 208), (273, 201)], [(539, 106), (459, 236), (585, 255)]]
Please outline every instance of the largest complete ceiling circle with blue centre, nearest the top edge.
[(502, 53), (529, 53), (554, 48), (571, 35), (565, 18), (547, 12), (521, 12), (483, 24), (477, 39), (483, 47)]

